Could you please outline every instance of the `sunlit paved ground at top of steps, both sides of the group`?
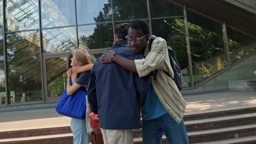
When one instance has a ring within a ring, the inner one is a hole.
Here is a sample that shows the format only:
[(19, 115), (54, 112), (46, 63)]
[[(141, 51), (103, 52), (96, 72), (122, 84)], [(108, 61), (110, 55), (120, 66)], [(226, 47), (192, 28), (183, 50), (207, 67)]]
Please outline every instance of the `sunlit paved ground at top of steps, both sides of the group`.
[[(186, 113), (256, 106), (256, 92), (218, 92), (185, 95)], [(0, 131), (68, 125), (69, 117), (59, 115), (54, 108), (0, 112)]]

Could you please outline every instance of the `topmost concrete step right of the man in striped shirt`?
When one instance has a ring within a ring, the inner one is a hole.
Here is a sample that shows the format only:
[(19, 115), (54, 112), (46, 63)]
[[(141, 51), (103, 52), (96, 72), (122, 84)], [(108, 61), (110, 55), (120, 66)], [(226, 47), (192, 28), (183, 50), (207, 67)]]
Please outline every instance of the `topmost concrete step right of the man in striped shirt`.
[(240, 114), (254, 113), (254, 112), (256, 112), (256, 106), (253, 106), (253, 107), (239, 106), (239, 107), (229, 107), (229, 108), (217, 109), (217, 110), (187, 112), (185, 113), (183, 119), (184, 121), (191, 121), (195, 119), (233, 116), (233, 115), (240, 115)]

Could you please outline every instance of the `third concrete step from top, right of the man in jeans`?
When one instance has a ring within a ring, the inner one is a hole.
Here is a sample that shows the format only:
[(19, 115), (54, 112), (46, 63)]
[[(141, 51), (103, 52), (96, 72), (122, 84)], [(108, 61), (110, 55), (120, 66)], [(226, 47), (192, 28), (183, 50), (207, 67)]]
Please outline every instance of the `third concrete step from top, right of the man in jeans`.
[(189, 142), (209, 142), (225, 139), (237, 139), (239, 137), (256, 136), (256, 124), (241, 125), (237, 127), (219, 128), (188, 132)]

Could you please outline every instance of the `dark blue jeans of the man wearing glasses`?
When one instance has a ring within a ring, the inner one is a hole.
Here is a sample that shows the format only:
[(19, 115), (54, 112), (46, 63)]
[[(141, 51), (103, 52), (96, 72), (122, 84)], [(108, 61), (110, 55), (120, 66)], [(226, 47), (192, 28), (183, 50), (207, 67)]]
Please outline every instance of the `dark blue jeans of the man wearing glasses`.
[(182, 122), (178, 124), (169, 113), (149, 121), (142, 121), (143, 143), (162, 143), (162, 132), (165, 133), (167, 140), (171, 144), (189, 143), (184, 121), (182, 120)]

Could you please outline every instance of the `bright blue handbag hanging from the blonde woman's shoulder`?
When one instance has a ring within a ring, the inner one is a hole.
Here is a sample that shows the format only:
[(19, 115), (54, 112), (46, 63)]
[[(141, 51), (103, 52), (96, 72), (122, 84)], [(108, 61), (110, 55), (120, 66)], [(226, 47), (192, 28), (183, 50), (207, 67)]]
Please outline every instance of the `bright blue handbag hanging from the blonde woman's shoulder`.
[[(72, 85), (72, 82), (70, 80)], [(57, 103), (55, 109), (60, 115), (85, 119), (86, 112), (86, 99), (87, 93), (80, 87), (72, 95), (67, 94), (67, 89), (61, 95), (59, 102)]]

